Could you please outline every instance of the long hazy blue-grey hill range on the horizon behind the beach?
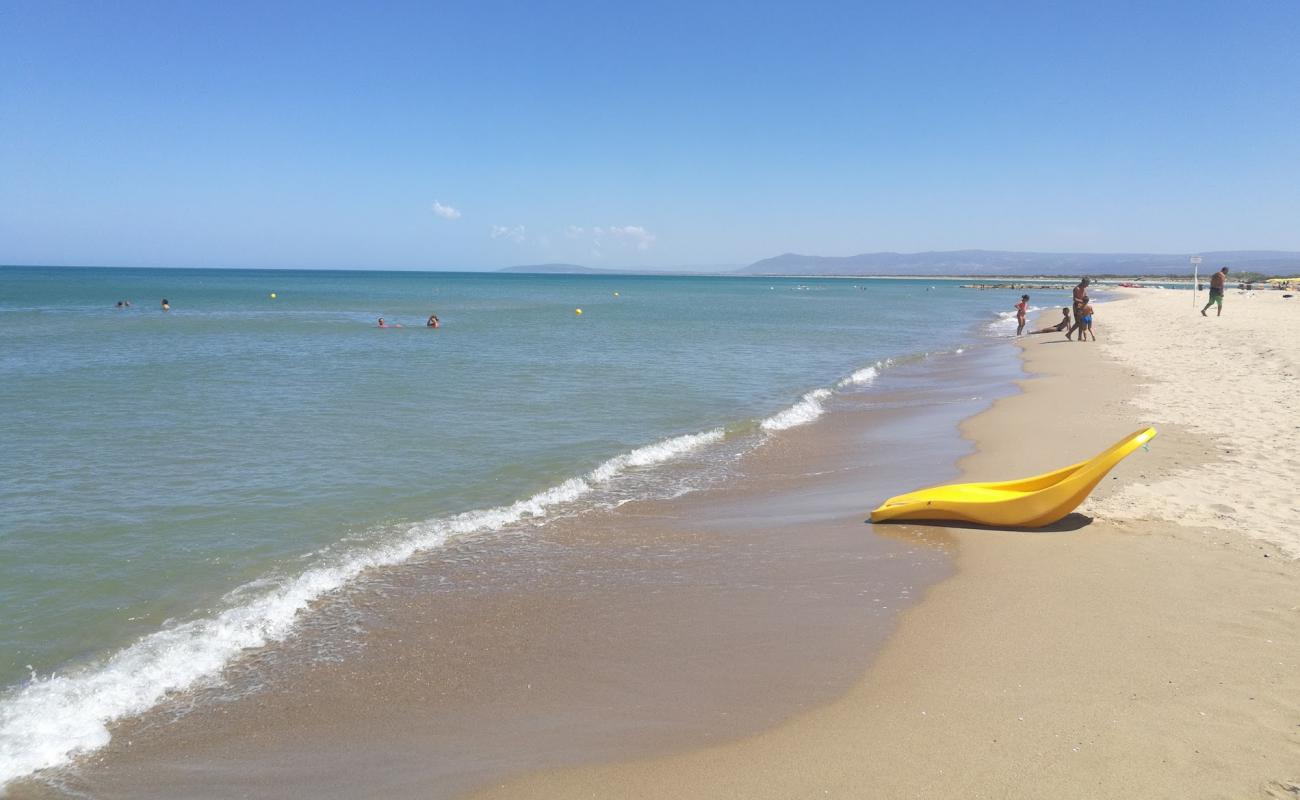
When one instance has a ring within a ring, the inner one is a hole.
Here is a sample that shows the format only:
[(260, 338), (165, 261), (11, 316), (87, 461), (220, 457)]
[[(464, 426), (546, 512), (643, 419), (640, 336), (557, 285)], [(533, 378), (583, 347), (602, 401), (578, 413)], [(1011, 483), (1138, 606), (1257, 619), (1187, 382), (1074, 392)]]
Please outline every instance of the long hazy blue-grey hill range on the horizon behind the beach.
[[(740, 269), (741, 274), (1182, 274), (1191, 273), (1190, 254), (1015, 252), (950, 250), (931, 252), (864, 252), (819, 256), (786, 252)], [(1300, 252), (1228, 250), (1202, 252), (1201, 272), (1219, 267), (1277, 274), (1300, 273)]]

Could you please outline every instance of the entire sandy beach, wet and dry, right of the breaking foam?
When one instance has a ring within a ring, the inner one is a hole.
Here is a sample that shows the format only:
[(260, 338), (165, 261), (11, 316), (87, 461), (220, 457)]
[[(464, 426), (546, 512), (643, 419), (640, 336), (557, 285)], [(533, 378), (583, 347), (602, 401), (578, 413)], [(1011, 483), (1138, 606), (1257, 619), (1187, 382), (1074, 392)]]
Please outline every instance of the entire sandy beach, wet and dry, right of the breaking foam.
[[(718, 484), (378, 571), (10, 796), (1295, 797), (1296, 307), (1114, 297), (1096, 343), (893, 364)], [(1147, 424), (1048, 531), (864, 522)]]

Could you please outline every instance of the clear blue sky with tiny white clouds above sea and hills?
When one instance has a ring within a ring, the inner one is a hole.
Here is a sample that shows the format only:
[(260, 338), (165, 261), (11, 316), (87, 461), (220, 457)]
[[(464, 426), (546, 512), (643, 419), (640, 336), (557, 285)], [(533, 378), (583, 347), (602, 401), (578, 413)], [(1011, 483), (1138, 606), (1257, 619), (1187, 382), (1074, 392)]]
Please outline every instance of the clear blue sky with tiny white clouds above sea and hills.
[(1292, 0), (5, 0), (0, 263), (1300, 250), (1297, 40)]

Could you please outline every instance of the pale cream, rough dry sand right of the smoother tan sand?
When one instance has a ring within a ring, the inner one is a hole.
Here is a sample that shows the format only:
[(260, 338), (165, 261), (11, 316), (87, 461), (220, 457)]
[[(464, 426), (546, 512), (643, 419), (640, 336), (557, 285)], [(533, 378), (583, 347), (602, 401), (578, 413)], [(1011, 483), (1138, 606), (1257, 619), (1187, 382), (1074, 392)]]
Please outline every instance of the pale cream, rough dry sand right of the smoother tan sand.
[(1087, 509), (1244, 532), (1300, 557), (1300, 299), (1230, 290), (1223, 316), (1205, 319), (1186, 291), (1139, 294), (1098, 313), (1114, 325), (1102, 350), (1138, 372), (1131, 412), (1201, 434), (1209, 463), (1161, 462)]

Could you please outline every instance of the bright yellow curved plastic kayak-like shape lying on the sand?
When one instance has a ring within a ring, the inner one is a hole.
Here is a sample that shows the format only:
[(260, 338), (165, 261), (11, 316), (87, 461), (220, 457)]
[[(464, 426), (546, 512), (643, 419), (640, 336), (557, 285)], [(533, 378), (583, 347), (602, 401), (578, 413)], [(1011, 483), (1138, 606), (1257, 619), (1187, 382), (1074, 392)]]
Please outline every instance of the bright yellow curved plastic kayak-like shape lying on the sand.
[(1156, 436), (1144, 428), (1088, 460), (1063, 470), (992, 484), (950, 484), (890, 497), (871, 522), (928, 519), (1000, 528), (1041, 528), (1074, 511), (1126, 455)]

